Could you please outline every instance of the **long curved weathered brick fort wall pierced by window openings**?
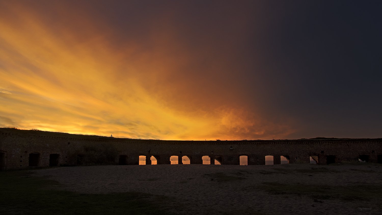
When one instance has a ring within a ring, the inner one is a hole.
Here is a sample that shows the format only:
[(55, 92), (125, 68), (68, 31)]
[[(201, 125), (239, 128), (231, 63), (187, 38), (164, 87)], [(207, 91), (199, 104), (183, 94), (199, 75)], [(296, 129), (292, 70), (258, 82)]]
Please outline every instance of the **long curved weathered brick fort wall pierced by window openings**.
[[(240, 155), (248, 156), (248, 165), (265, 165), (265, 156), (280, 156), (290, 163), (309, 163), (309, 156), (319, 164), (341, 161), (382, 162), (382, 138), (378, 139), (299, 139), (253, 141), (162, 141), (88, 136), (46, 131), (0, 128), (0, 168), (28, 168), (30, 165), (76, 165), (77, 154), (86, 146), (110, 144), (127, 165), (137, 165), (139, 155), (154, 156), (158, 164), (170, 164), (170, 156), (188, 156), (191, 164), (202, 164), (202, 156), (220, 156), (223, 165), (239, 165)], [(217, 158), (217, 157), (216, 157)], [(30, 159), (32, 162), (30, 162)], [(36, 163), (33, 162), (36, 160)], [(53, 163), (52, 163), (53, 160)], [(150, 159), (146, 159), (147, 164)], [(118, 157), (115, 158), (118, 164)], [(211, 162), (213, 163), (213, 162)]]

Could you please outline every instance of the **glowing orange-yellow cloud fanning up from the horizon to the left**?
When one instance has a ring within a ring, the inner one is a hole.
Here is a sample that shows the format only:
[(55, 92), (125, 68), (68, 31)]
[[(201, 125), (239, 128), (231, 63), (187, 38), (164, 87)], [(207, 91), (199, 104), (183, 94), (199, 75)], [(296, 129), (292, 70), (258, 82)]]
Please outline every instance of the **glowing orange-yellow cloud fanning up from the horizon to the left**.
[(219, 84), (225, 64), (209, 64), (210, 53), (201, 53), (207, 62), (196, 76), (183, 72), (197, 59), (172, 26), (161, 26), (160, 34), (152, 27), (146, 50), (130, 37), (113, 44), (117, 31), (83, 11), (65, 14), (65, 5), (55, 7), (64, 17), (57, 26), (47, 21), (49, 14), (4, 5), (2, 126), (180, 140), (269, 139), (293, 132), (264, 121), (256, 108), (227, 101), (238, 95)]

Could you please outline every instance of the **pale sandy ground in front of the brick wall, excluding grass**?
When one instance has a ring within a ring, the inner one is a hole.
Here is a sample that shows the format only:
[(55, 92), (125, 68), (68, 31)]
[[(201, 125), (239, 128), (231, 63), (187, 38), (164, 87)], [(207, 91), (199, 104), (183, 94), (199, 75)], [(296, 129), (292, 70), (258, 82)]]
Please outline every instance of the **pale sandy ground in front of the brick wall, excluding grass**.
[[(320, 172), (316, 168), (326, 169)], [(173, 208), (170, 214), (382, 214), (382, 198), (318, 202), (307, 194), (270, 194), (261, 189), (267, 182), (381, 186), (382, 165), (378, 164), (88, 166), (36, 170), (36, 175), (49, 176), (63, 184), (63, 189), (81, 193), (138, 191), (164, 195), (173, 199), (168, 201)], [(179, 207), (185, 210), (177, 210)]]

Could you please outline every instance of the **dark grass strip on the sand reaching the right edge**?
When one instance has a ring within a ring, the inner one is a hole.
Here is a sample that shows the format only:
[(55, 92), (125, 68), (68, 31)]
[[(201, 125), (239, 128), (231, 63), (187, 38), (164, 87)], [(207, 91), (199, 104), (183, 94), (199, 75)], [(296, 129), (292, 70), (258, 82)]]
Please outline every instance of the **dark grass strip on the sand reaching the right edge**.
[(312, 184), (281, 184), (265, 182), (252, 187), (265, 190), (270, 194), (294, 194), (310, 196), (313, 199), (376, 200), (382, 192), (379, 184), (359, 184), (357, 186), (327, 186)]

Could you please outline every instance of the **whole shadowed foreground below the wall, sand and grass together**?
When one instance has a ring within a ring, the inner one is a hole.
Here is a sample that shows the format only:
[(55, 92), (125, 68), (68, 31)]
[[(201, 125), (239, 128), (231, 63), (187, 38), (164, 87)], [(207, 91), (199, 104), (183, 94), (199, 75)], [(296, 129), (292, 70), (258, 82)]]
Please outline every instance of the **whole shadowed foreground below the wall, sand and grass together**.
[[(5, 204), (0, 213), (382, 213), (379, 164), (129, 165), (34, 172), (1, 173)], [(17, 207), (21, 204), (29, 206)]]

